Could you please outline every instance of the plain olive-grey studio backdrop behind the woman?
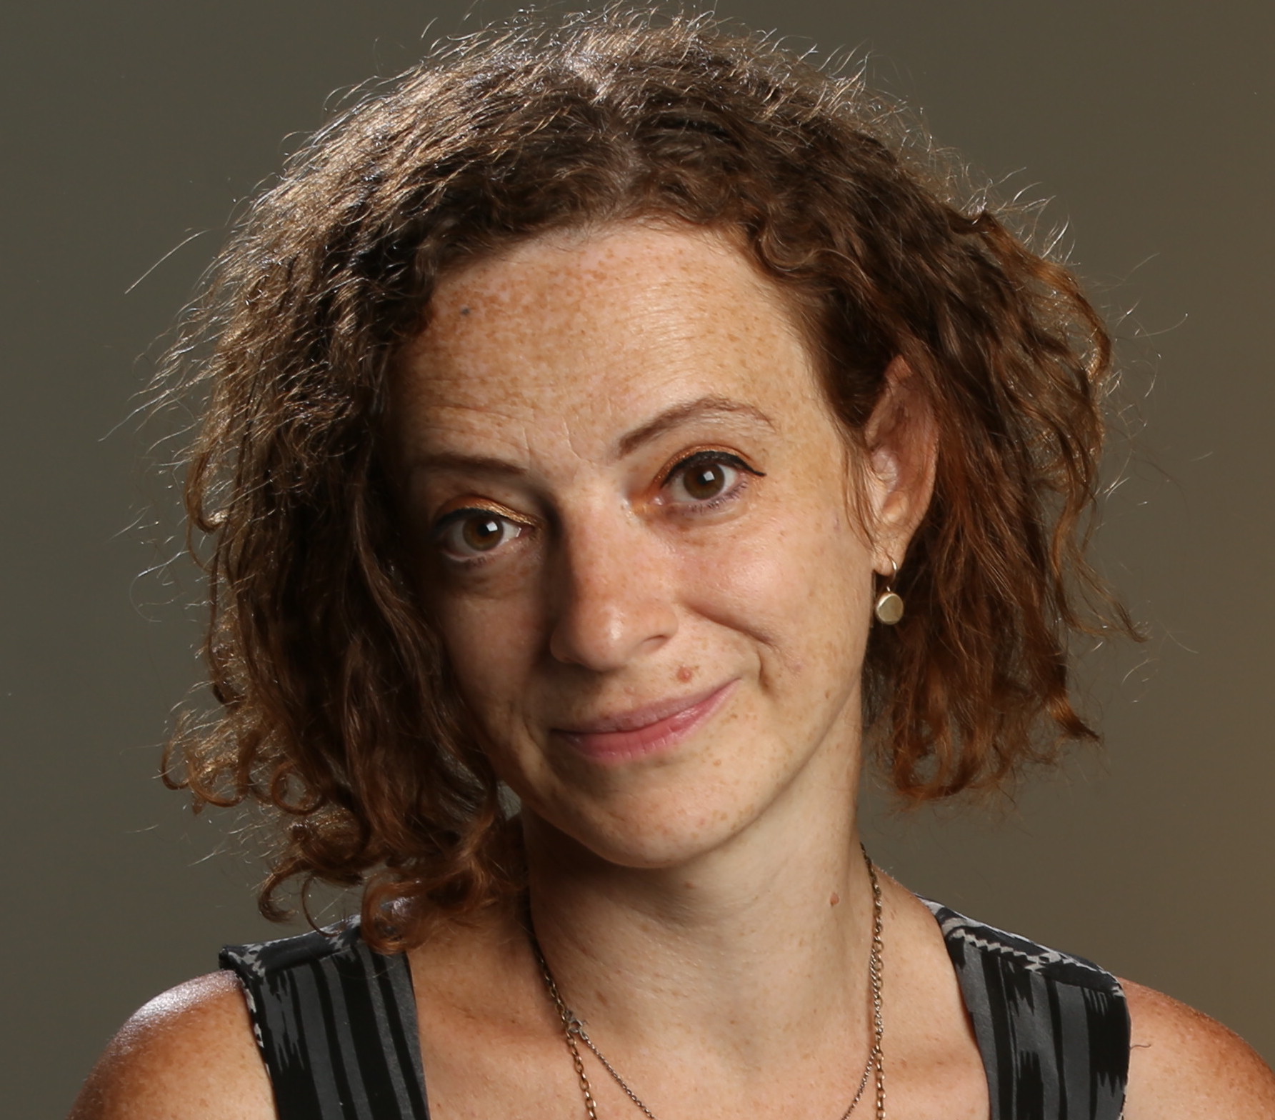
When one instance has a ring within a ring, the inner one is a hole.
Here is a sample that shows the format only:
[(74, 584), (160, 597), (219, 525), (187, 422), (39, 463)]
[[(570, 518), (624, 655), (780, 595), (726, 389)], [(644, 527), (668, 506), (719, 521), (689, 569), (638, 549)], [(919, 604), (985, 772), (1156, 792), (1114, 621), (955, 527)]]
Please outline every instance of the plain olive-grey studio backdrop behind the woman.
[[(1105, 751), (998, 814), (896, 818), (870, 796), (871, 851), (919, 893), (1163, 989), (1275, 1059), (1275, 8), (719, 10), (867, 55), (1000, 194), (1051, 199), (1044, 225), (1066, 226), (1127, 370), (1133, 438), (1108, 472), (1127, 481), (1096, 555), (1150, 640), (1090, 659)], [(129, 416), (236, 204), (334, 91), (404, 69), (463, 18), (407, 0), (6, 9), (6, 1115), (60, 1116), (134, 1008), (222, 943), (283, 932), (255, 913), (240, 816), (193, 818), (156, 779), (198, 674), (200, 612), (182, 603), (199, 592), (184, 568), (139, 578), (171, 551), (147, 540), (176, 526), (139, 467), (158, 432)]]

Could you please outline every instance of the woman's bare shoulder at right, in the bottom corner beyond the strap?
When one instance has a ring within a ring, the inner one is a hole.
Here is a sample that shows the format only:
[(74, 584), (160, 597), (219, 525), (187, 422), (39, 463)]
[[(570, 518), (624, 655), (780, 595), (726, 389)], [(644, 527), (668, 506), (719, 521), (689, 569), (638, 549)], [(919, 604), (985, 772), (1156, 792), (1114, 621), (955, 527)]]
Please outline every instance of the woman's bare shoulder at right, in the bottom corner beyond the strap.
[(1132, 1023), (1125, 1120), (1271, 1120), (1275, 1073), (1216, 1019), (1122, 980)]

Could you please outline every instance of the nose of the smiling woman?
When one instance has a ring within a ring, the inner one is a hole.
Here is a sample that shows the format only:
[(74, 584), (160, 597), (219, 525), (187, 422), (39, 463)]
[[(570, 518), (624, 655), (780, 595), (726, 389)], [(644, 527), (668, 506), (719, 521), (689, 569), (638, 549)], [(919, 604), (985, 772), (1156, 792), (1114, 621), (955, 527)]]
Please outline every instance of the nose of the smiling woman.
[(615, 671), (677, 633), (667, 551), (640, 519), (595, 513), (565, 527), (560, 541), (551, 575), (555, 659)]

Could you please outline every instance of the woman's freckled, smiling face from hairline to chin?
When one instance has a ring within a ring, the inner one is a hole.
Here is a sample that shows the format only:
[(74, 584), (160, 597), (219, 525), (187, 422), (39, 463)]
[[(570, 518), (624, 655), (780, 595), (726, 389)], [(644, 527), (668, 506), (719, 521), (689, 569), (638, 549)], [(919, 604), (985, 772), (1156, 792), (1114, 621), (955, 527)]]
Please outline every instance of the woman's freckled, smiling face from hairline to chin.
[(728, 239), (627, 223), (449, 276), (394, 421), (421, 587), (524, 811), (667, 866), (853, 774), (903, 529), (852, 495), (878, 526), (907, 496)]

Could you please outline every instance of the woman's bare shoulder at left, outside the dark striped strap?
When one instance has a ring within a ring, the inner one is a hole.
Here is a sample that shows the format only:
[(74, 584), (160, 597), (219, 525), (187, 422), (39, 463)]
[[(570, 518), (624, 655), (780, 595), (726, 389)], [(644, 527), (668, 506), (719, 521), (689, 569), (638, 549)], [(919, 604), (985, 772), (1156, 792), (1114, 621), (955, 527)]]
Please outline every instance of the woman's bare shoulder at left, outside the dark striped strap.
[(120, 1028), (70, 1120), (274, 1115), (242, 989), (213, 972), (156, 996)]

